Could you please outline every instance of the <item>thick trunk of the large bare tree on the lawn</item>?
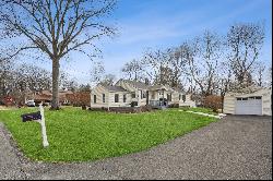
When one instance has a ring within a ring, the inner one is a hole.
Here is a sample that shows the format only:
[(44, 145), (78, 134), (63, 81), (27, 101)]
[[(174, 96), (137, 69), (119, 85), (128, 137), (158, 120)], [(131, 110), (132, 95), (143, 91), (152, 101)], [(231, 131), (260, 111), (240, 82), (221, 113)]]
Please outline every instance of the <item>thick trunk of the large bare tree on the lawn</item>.
[(59, 59), (52, 60), (52, 101), (51, 101), (51, 110), (59, 109), (59, 68), (60, 62)]

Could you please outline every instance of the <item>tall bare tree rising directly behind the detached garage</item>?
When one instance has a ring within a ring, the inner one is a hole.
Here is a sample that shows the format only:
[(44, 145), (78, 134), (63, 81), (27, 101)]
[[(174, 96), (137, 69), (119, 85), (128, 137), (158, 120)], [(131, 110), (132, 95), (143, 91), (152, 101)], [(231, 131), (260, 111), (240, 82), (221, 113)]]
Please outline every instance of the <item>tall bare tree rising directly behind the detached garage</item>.
[[(259, 23), (238, 23), (227, 34), (227, 46), (230, 49), (229, 65), (239, 84), (251, 81), (251, 68), (257, 62), (264, 40), (263, 25)], [(247, 84), (247, 85), (249, 85)]]

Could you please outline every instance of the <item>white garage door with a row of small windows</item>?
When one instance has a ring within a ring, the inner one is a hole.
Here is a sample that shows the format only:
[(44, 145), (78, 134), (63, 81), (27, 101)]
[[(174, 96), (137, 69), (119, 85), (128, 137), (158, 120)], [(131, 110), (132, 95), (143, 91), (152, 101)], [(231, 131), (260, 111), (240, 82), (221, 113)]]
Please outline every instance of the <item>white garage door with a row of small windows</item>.
[(262, 97), (237, 98), (236, 114), (262, 114)]

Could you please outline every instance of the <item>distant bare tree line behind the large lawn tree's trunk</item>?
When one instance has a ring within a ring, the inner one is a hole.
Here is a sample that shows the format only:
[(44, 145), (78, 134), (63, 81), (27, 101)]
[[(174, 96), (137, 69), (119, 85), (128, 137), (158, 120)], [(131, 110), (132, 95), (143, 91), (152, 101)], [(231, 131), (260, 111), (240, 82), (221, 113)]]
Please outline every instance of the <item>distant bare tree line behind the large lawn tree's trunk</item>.
[[(51, 72), (34, 64), (16, 64), (11, 60), (0, 62), (0, 98), (12, 96), (24, 100), (28, 93), (50, 90), (52, 88)], [(90, 92), (91, 86), (79, 84), (67, 73), (60, 72), (60, 89), (70, 89), (75, 93)]]

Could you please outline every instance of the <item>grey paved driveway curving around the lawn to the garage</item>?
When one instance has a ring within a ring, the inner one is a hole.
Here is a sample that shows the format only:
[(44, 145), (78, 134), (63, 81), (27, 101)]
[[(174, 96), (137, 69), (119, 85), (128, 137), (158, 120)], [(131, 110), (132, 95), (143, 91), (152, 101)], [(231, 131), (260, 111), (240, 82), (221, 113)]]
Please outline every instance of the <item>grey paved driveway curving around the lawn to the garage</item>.
[(272, 180), (271, 119), (227, 116), (146, 152), (82, 164), (27, 161), (0, 131), (0, 179)]

